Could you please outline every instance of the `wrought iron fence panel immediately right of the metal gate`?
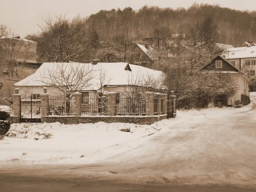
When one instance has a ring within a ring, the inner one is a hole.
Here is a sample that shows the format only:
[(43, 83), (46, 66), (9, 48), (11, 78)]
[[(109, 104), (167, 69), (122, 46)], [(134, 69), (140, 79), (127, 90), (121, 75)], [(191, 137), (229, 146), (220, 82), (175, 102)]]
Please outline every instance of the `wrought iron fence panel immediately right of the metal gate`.
[(73, 105), (73, 98), (49, 97), (49, 115), (74, 115)]

